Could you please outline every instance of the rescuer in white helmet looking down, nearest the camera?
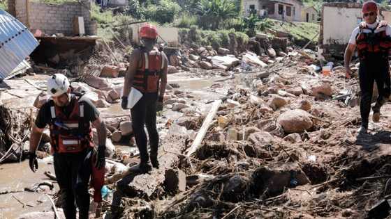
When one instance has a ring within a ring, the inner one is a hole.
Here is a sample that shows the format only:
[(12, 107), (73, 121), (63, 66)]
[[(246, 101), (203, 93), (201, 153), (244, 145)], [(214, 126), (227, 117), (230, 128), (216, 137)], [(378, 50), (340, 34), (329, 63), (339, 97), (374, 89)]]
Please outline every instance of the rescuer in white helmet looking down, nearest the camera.
[[(105, 123), (89, 99), (79, 99), (71, 93), (68, 79), (54, 74), (47, 80), (47, 93), (51, 99), (44, 104), (36, 118), (30, 136), (29, 165), (38, 169), (36, 149), (43, 129), (48, 124), (54, 157), (54, 172), (61, 190), (66, 219), (89, 218), (89, 179), (92, 166), (101, 170), (105, 166)], [(94, 152), (91, 123), (98, 133), (97, 153)], [(96, 156), (96, 157), (95, 157)], [(92, 163), (91, 159), (96, 160)]]

